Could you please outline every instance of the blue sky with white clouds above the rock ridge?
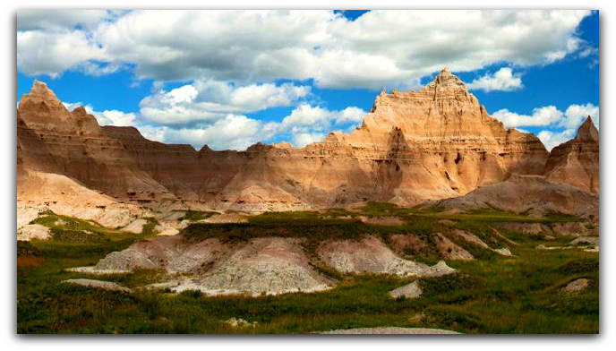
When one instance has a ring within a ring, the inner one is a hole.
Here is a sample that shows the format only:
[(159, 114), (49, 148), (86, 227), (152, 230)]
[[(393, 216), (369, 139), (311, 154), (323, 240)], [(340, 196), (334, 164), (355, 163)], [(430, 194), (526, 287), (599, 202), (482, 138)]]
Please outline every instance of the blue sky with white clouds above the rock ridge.
[(444, 67), (548, 150), (599, 127), (598, 11), (17, 11), (18, 103), (45, 81), (99, 124), (196, 150), (349, 133), (383, 87)]

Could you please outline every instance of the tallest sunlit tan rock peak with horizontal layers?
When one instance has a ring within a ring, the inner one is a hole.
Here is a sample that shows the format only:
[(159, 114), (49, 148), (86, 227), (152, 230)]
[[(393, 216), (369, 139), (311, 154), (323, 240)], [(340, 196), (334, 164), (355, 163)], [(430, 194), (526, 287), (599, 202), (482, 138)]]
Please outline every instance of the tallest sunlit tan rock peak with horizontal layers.
[(512, 173), (541, 175), (548, 156), (534, 134), (488, 116), (448, 69), (417, 92), (381, 92), (362, 127), (342, 139), (377, 163), (381, 199), (401, 203), (459, 196)]

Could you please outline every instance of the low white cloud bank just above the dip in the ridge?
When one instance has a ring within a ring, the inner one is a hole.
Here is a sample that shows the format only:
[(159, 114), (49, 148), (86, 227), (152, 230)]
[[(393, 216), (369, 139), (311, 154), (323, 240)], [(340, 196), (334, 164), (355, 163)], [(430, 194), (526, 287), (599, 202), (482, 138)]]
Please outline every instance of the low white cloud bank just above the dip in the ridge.
[[(300, 103), (280, 122), (263, 122), (238, 113), (226, 113), (284, 106), (310, 91), (309, 87), (290, 83), (235, 87), (220, 81), (197, 81), (169, 91), (160, 85), (157, 88), (157, 93), (141, 101), (139, 114), (117, 110), (99, 112), (90, 105), (85, 108), (101, 125), (133, 125), (153, 141), (189, 143), (195, 149), (207, 144), (214, 150), (244, 150), (257, 141), (272, 141), (277, 136), (303, 147), (321, 141), (335, 127), (355, 128), (366, 114), (359, 107), (329, 110), (308, 103)], [(234, 103), (235, 106), (227, 105)], [(80, 105), (64, 103), (69, 109)]]

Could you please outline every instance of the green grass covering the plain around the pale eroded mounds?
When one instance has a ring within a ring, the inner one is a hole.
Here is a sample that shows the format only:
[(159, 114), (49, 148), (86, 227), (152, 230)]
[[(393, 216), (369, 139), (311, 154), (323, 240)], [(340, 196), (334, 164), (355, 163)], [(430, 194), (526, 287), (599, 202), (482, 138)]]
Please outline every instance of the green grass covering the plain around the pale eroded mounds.
[[(305, 240), (304, 250), (313, 257), (315, 245), (327, 238), (381, 235), (387, 243), (391, 234), (414, 233), (429, 239), (440, 232), (480, 259), (448, 262), (458, 270), (456, 275), (420, 279), (424, 295), (417, 299), (388, 296), (391, 289), (414, 278), (343, 275), (319, 265), (315, 268), (322, 274), (338, 280), (335, 288), (314, 294), (261, 297), (207, 297), (195, 292), (172, 295), (141, 290), (124, 294), (60, 284), (64, 279), (88, 277), (63, 269), (94, 264), (107, 253), (122, 250), (134, 240), (148, 237), (147, 234), (105, 232), (101, 234), (105, 240), (86, 243), (18, 242), (18, 256), (20, 252), (36, 253), (45, 261), (33, 268), (18, 266), (17, 332), (296, 333), (377, 326), (444, 328), (465, 333), (599, 332), (598, 253), (535, 250), (538, 238), (502, 233), (520, 243), (511, 246), (515, 256), (502, 257), (451, 235), (449, 227), (433, 216), (438, 212), (406, 209), (404, 213), (405, 209), (396, 207), (370, 206), (374, 214), (381, 210), (381, 216), (397, 213), (407, 224), (369, 226), (353, 219), (323, 220), (322, 212), (288, 212), (265, 214), (252, 218), (249, 224), (193, 225), (184, 234), (195, 241), (207, 237), (230, 241), (268, 235), (304, 237), (309, 239)], [(493, 213), (498, 218), (501, 215)], [(489, 227), (496, 220), (489, 218), (489, 214), (467, 216), (483, 216), (485, 220), (458, 218), (456, 226), (487, 244), (503, 244), (490, 235)], [(76, 226), (85, 224), (76, 222)], [(568, 237), (560, 237), (556, 242), (567, 240)], [(420, 256), (428, 261), (436, 259), (430, 253)], [(130, 275), (101, 278), (140, 287), (158, 281), (162, 274), (157, 270), (138, 270)], [(560, 292), (561, 287), (576, 278), (590, 278), (593, 283), (579, 294)], [(258, 324), (254, 329), (234, 329), (224, 323), (231, 317)]]

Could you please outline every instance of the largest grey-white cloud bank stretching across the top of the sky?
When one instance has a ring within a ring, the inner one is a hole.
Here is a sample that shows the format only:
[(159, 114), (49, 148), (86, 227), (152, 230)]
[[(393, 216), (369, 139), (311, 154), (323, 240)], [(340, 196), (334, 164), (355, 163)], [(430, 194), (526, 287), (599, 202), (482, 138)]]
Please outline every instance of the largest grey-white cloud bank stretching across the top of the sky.
[[(324, 88), (378, 89), (413, 85), (443, 66), (468, 72), (503, 62), (549, 64), (580, 50), (588, 55), (577, 26), (590, 13), (371, 11), (355, 21), (332, 11), (134, 11), (82, 20), (18, 13), (17, 62), (28, 74), (57, 75), (98, 60), (133, 64), (138, 77), (160, 81), (312, 79)], [(75, 29), (80, 21), (83, 28)], [(56, 47), (71, 37), (81, 45), (66, 57)]]

